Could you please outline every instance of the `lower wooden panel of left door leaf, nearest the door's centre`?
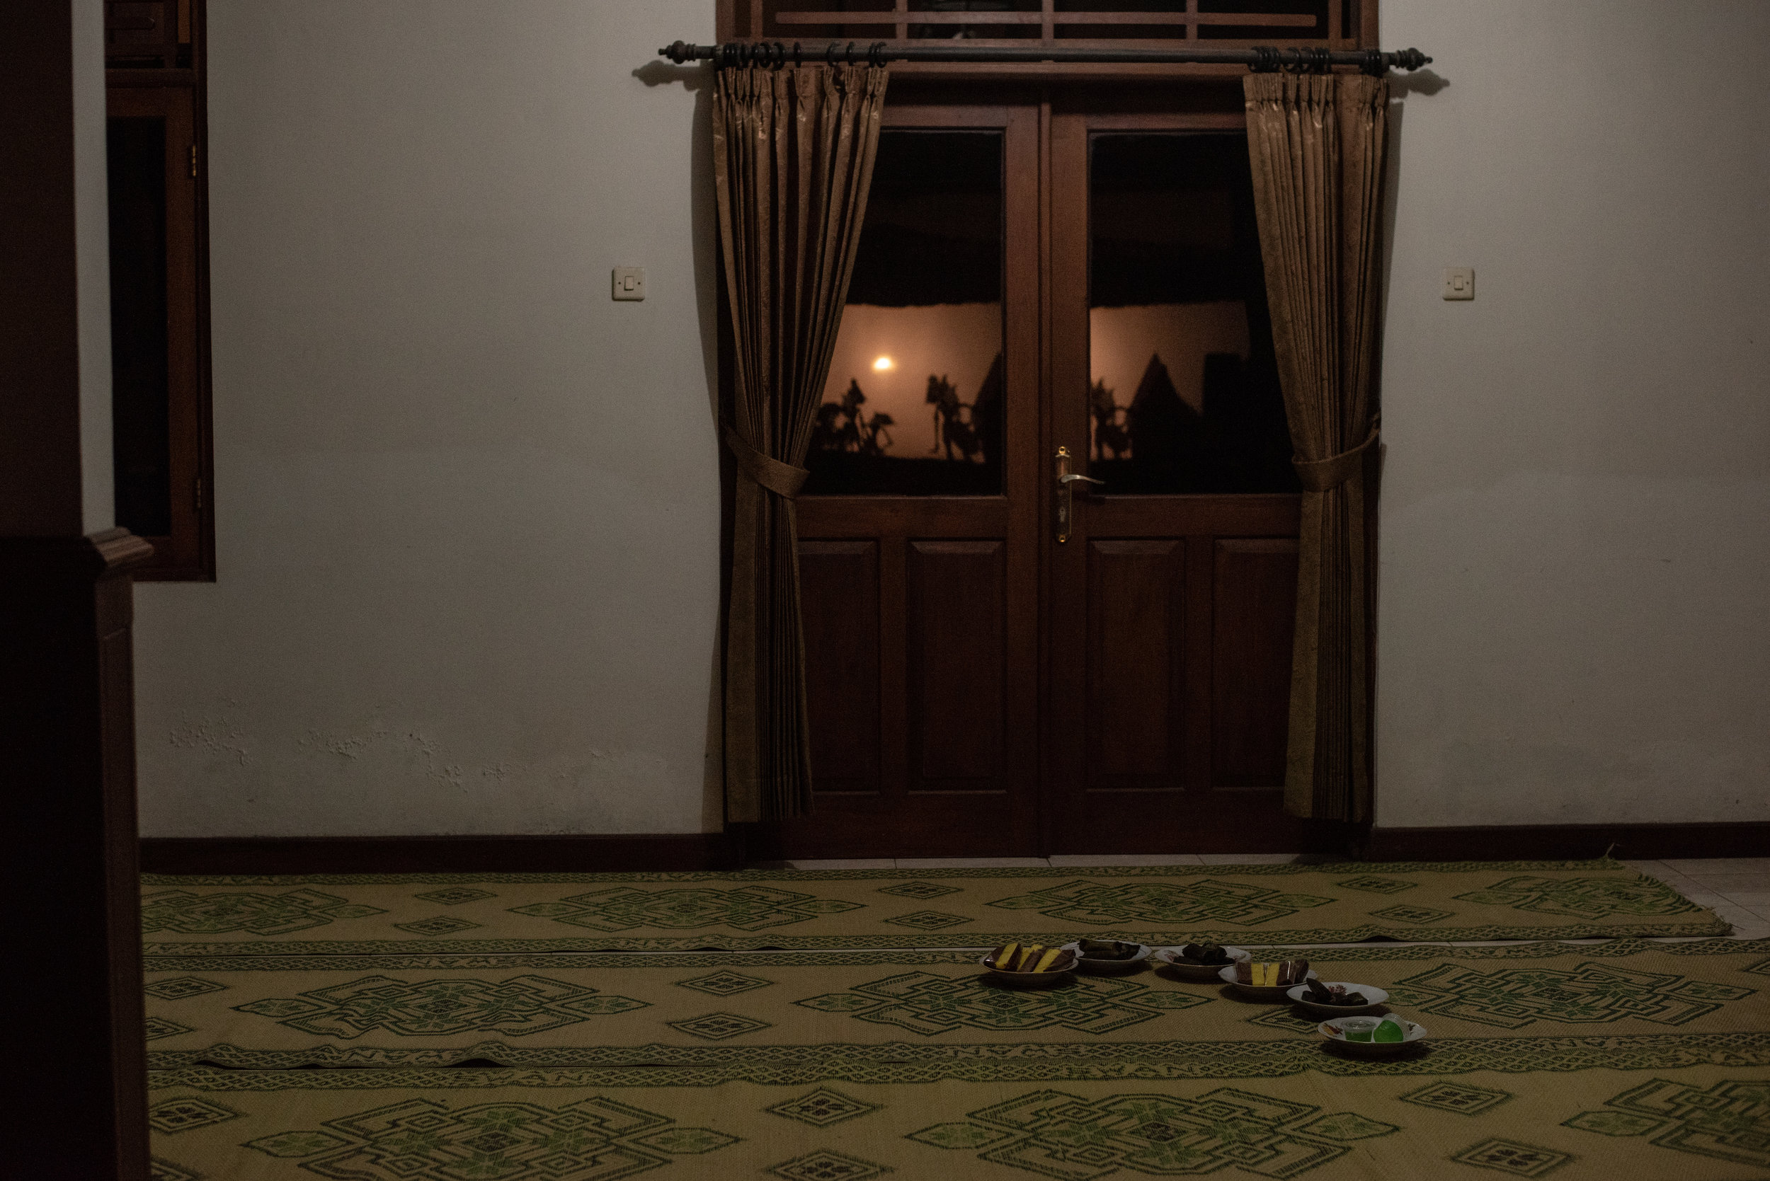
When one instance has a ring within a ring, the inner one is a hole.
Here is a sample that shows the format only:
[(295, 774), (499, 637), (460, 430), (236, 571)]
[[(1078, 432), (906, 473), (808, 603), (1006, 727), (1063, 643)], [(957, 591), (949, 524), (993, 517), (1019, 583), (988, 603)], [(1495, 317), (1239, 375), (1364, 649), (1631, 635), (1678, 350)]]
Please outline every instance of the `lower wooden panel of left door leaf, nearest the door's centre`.
[(1002, 790), (1005, 541), (910, 543), (910, 790)]

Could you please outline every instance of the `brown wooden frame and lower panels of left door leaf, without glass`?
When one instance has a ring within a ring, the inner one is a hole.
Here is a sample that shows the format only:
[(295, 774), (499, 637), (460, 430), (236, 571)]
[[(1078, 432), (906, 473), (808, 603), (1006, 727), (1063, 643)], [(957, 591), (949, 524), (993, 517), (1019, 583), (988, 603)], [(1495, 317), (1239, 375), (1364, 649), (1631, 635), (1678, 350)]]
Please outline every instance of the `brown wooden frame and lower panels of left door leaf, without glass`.
[[(811, 817), (759, 833), (752, 856), (896, 856), (904, 833), (926, 856), (1014, 856), (1037, 847), (1039, 659), (1039, 110), (1028, 104), (899, 103), (887, 127), (1004, 131), (1004, 357), (1005, 488), (995, 497), (800, 497), (800, 569), (807, 596), (807, 644), (835, 652), (837, 679), (820, 695), (862, 693), (841, 741), (841, 780), (820, 780)], [(961, 589), (997, 596), (1000, 633), (961, 635), (947, 610)], [(811, 596), (858, 601), (876, 631), (839, 640), (843, 621), (820, 613)], [(942, 649), (965, 645), (995, 665), (982, 679), (998, 695), (1000, 720), (968, 737), (975, 750), (945, 760), (938, 721), (963, 712), (965, 677), (945, 675)], [(823, 645), (823, 647), (820, 647)], [(943, 700), (950, 697), (952, 700)], [(876, 718), (876, 723), (867, 720)], [(993, 734), (984, 734), (993, 728)], [(834, 737), (834, 735), (832, 735)], [(818, 739), (812, 739), (814, 744)], [(814, 751), (818, 748), (814, 746)], [(828, 760), (825, 760), (828, 762)], [(881, 826), (894, 817), (896, 833)]]

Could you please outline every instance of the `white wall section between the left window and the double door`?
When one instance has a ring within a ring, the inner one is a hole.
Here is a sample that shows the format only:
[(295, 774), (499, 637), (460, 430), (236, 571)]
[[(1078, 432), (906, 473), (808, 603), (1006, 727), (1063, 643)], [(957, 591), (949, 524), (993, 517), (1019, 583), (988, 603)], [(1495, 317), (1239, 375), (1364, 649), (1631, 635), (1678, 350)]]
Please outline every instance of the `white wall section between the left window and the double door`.
[(136, 592), (143, 833), (712, 826), (708, 94), (634, 71), (713, 5), (209, 30), (219, 580)]

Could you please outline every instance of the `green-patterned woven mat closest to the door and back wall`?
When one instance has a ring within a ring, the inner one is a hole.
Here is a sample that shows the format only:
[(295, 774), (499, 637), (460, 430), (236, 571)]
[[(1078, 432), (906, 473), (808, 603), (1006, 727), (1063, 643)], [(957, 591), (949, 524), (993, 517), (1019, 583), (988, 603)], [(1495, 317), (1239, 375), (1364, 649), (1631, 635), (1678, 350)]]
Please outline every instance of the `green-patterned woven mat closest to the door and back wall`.
[(416, 949), (991, 948), (1724, 935), (1616, 861), (168, 877), (142, 886), (159, 955)]

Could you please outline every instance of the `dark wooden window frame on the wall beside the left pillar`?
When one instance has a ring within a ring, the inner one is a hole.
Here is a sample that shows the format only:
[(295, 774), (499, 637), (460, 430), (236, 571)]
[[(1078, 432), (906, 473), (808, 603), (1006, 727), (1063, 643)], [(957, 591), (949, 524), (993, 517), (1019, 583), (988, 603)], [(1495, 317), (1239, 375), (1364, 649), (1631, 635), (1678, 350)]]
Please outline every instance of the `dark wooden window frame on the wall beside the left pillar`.
[[(106, 115), (166, 120), (166, 394), (172, 532), (136, 582), (214, 582), (204, 0), (106, 9)], [(143, 27), (143, 12), (149, 14)]]

